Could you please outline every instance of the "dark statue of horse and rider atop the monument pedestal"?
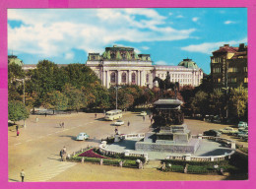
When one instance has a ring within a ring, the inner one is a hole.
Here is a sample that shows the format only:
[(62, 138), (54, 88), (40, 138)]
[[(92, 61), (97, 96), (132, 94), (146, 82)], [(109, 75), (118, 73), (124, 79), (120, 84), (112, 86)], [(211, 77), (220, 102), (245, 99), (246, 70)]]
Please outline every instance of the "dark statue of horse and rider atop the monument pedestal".
[(179, 83), (178, 82), (170, 82), (169, 72), (167, 72), (165, 80), (161, 80), (159, 77), (155, 77), (153, 82), (158, 82), (160, 87), (160, 93), (163, 95), (163, 92), (170, 89), (175, 93), (175, 98), (177, 98), (177, 92), (179, 91)]

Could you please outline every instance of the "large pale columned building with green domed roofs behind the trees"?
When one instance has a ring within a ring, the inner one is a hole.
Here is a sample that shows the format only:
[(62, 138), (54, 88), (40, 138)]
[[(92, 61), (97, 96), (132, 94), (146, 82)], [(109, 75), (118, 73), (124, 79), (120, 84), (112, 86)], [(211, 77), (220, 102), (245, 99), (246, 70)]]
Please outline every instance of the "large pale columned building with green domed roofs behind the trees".
[(153, 88), (155, 77), (165, 79), (167, 71), (170, 82), (180, 86), (197, 87), (203, 78), (202, 69), (191, 59), (184, 59), (178, 66), (153, 65), (150, 54), (137, 54), (134, 48), (116, 46), (106, 47), (102, 55), (89, 53), (87, 66), (106, 88), (116, 85), (138, 85)]

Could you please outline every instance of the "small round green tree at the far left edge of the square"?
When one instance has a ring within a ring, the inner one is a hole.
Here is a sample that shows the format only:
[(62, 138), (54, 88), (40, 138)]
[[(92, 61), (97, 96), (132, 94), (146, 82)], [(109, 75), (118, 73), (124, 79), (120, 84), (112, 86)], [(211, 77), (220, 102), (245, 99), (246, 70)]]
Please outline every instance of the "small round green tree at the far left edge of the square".
[(20, 121), (27, 119), (30, 113), (22, 101), (12, 100), (8, 102), (8, 119), (11, 121)]

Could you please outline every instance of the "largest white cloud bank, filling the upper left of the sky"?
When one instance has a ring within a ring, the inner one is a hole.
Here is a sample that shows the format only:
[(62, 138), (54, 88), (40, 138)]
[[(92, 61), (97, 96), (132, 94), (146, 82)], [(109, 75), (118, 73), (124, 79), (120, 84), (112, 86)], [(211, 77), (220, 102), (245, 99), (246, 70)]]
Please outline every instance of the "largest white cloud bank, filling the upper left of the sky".
[(103, 52), (118, 41), (151, 42), (189, 38), (195, 29), (176, 30), (154, 9), (9, 9), (8, 46), (19, 53), (71, 58), (72, 49)]

